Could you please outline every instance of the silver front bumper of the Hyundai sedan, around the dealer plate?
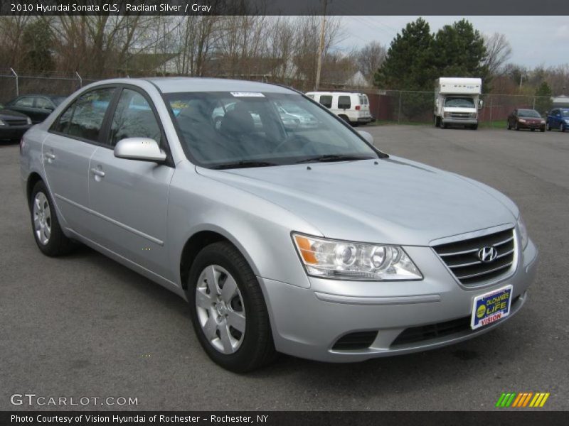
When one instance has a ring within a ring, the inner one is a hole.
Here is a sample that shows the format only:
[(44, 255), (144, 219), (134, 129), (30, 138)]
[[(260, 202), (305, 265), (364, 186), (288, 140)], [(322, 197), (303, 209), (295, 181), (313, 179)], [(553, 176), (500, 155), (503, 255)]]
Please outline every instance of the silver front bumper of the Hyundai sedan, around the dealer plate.
[[(351, 362), (462, 342), (519, 312), (536, 273), (537, 249), (531, 241), (520, 253), (513, 275), (483, 288), (460, 285), (428, 247), (405, 247), (405, 251), (420, 265), (424, 280), (378, 283), (311, 277), (307, 289), (260, 278), (277, 351), (317, 361)], [(514, 290), (511, 313), (503, 320), (475, 331), (461, 329), (443, 337), (394, 344), (405, 329), (469, 317), (474, 297), (506, 284)], [(365, 349), (333, 349), (346, 334), (370, 331), (378, 333)]]

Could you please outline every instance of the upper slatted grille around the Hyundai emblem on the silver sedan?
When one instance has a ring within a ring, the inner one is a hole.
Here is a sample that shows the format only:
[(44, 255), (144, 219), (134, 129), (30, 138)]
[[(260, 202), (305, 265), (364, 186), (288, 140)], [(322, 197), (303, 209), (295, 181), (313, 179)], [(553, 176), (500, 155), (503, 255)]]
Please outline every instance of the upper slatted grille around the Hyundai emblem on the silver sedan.
[[(483, 247), (494, 247), (494, 261), (483, 262), (478, 253)], [(464, 285), (476, 285), (507, 273), (514, 263), (514, 229), (440, 244), (433, 249)]]

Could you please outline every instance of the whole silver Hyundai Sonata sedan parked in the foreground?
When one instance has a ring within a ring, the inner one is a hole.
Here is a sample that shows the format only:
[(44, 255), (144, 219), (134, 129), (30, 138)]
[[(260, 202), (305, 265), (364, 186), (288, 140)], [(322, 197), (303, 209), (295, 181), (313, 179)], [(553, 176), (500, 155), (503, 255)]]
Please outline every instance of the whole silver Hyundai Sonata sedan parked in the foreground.
[(460, 342), (518, 312), (535, 272), (514, 202), (272, 84), (91, 84), (26, 133), (21, 178), (43, 253), (81, 241), (186, 298), (233, 371)]

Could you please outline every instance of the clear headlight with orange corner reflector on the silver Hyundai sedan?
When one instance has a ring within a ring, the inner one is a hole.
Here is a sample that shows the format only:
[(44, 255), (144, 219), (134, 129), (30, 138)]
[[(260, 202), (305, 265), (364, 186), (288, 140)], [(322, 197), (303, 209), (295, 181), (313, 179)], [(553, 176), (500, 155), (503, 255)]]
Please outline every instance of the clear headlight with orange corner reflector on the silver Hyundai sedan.
[(422, 280), (400, 246), (362, 244), (292, 234), (308, 275), (344, 280)]

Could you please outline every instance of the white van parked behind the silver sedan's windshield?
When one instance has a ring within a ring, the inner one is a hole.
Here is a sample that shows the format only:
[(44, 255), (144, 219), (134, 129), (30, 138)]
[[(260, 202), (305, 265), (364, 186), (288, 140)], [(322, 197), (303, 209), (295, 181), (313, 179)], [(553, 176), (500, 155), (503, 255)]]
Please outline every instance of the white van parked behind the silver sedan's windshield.
[(356, 92), (307, 92), (307, 97), (320, 102), (352, 126), (373, 120), (366, 94)]

